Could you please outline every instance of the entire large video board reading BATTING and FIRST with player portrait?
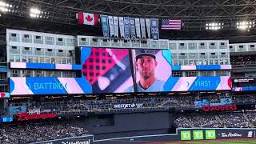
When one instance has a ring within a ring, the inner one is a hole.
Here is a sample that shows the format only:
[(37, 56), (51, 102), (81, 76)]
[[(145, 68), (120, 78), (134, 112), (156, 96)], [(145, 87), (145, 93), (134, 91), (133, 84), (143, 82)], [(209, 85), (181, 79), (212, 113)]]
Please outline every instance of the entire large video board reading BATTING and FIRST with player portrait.
[(10, 94), (231, 90), (230, 77), (172, 77), (170, 50), (80, 47), (82, 78), (10, 78)]

